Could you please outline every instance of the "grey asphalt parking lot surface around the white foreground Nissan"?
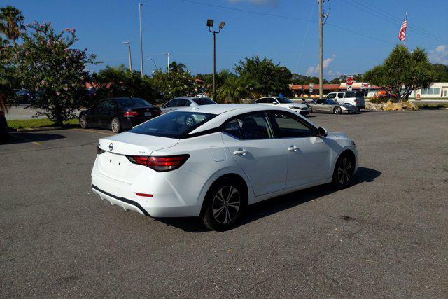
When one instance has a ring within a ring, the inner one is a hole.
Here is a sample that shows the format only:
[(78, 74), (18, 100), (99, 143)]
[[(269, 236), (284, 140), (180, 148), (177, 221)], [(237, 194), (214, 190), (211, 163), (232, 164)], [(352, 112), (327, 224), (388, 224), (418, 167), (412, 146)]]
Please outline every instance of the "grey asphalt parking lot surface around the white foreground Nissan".
[(447, 297), (448, 111), (317, 115), (356, 141), (353, 186), (249, 209), (228, 232), (92, 194), (106, 130), (0, 145), (0, 297)]

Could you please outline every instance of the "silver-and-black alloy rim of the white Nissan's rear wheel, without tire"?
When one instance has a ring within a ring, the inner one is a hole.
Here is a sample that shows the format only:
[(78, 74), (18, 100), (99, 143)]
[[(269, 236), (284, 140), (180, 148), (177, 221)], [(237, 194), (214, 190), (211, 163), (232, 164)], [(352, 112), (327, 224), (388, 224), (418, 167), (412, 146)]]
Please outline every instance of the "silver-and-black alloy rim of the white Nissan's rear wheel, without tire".
[(223, 186), (216, 192), (212, 202), (215, 220), (227, 224), (235, 220), (241, 207), (241, 196), (234, 186)]

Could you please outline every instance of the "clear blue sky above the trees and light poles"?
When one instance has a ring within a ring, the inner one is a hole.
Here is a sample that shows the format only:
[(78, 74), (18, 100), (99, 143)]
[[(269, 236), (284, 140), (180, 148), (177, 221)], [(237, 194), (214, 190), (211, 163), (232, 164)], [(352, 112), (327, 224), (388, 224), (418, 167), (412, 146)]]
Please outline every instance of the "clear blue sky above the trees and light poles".
[[(227, 23), (217, 36), (217, 69), (233, 69), (252, 55), (272, 58), (291, 71), (315, 75), (318, 65), (318, 4), (315, 0), (142, 0), (144, 71), (166, 67), (167, 57), (193, 73), (213, 68), (213, 39), (207, 18)], [(103, 64), (128, 64), (132, 43), (134, 69), (140, 69), (139, 1), (133, 0), (0, 0), (13, 5), (26, 22), (52, 22), (57, 29), (76, 28), (78, 47), (97, 54)], [(206, 5), (204, 5), (206, 4)], [(209, 5), (207, 5), (209, 4)], [(217, 7), (217, 6), (223, 6)], [(398, 42), (405, 11), (406, 45), (428, 50), (433, 62), (448, 64), (447, 0), (327, 0), (324, 27), (324, 74), (364, 72), (381, 63)], [(250, 13), (253, 11), (257, 13)], [(311, 17), (311, 18), (310, 18)], [(308, 21), (311, 19), (311, 22)]]

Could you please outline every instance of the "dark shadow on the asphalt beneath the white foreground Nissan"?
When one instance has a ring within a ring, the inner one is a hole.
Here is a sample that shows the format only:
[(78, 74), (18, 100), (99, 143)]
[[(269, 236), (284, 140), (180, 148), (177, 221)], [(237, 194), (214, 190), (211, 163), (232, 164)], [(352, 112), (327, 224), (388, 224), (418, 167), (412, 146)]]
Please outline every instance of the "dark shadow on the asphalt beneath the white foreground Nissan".
[[(352, 186), (358, 185), (358, 183), (371, 183), (380, 175), (381, 172), (379, 172), (378, 170), (366, 167), (358, 167), (358, 172), (356, 173)], [(347, 190), (350, 190), (350, 188), (351, 187), (347, 188)], [(290, 209), (311, 200), (317, 200), (320, 197), (334, 193), (336, 191), (337, 189), (332, 188), (332, 186), (328, 183), (325, 185), (307, 188), (293, 193), (288, 193), (286, 195), (274, 197), (269, 200), (264, 200), (256, 204), (252, 204), (248, 207), (246, 215), (243, 216), (237, 226), (256, 221), (260, 218), (275, 214), (279, 211)], [(207, 228), (202, 225), (199, 218), (195, 217), (158, 218), (158, 221), (161, 221), (162, 223), (165, 223), (169, 226), (180, 228), (181, 230), (184, 230), (186, 232), (208, 231)]]

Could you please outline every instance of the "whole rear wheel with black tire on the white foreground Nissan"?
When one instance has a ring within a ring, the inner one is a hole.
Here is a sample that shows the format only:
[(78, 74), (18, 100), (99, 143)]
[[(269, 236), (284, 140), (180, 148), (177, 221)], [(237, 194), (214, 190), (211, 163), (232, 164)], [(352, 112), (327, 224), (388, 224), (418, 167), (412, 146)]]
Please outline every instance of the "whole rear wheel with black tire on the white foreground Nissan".
[(204, 200), (202, 222), (210, 230), (233, 228), (247, 207), (246, 188), (231, 179), (214, 183)]

